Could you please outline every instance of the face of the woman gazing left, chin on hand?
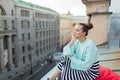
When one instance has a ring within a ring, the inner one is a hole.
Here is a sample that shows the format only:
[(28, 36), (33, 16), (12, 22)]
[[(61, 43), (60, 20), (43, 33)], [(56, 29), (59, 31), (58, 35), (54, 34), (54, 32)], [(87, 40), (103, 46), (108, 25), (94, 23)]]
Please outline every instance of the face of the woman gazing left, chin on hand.
[(85, 32), (82, 30), (82, 25), (76, 24), (73, 30), (73, 36), (77, 39), (85, 37)]

